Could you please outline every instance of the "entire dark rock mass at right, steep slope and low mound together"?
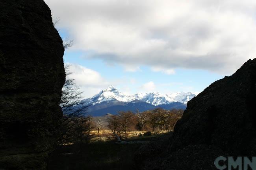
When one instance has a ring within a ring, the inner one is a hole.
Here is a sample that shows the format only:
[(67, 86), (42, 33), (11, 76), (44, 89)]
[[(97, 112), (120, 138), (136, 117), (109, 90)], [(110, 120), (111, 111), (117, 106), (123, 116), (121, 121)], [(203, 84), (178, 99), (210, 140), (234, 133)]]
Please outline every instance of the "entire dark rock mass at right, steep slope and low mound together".
[(143, 168), (147, 170), (214, 170), (220, 155), (255, 156), (255, 144), (256, 58), (187, 103), (168, 151), (151, 157), (137, 154), (149, 157)]

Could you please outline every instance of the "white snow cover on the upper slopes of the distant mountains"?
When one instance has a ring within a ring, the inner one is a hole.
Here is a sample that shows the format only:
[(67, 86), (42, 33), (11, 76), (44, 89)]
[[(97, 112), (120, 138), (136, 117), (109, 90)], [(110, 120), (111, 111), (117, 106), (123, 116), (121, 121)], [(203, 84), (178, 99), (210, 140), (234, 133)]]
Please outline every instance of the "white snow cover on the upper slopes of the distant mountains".
[(83, 104), (86, 105), (95, 105), (100, 104), (105, 101), (121, 101), (121, 102), (130, 102), (134, 100), (140, 100), (143, 102), (147, 102), (154, 106), (158, 106), (161, 104), (170, 104), (172, 102), (181, 102), (187, 104), (189, 100), (191, 100), (196, 95), (192, 94), (191, 92), (177, 92), (177, 93), (170, 93), (170, 94), (161, 94), (159, 92), (153, 93), (137, 93), (135, 95), (124, 95), (123, 93), (119, 92), (113, 86), (106, 88), (100, 93), (96, 94), (92, 98), (83, 100)]

